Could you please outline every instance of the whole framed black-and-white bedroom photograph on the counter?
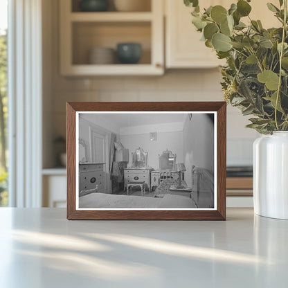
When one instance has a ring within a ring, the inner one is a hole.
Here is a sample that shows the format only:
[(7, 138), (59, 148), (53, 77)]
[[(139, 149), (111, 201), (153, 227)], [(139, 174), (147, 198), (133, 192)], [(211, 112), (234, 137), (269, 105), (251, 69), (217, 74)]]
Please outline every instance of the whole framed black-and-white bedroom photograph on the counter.
[(226, 219), (225, 102), (67, 103), (67, 219)]

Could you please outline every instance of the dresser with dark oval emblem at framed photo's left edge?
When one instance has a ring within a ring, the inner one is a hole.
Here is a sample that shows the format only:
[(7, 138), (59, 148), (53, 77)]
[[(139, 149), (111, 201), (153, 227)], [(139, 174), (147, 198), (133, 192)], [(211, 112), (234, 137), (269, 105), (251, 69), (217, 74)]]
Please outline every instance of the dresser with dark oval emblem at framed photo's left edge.
[(98, 192), (105, 193), (104, 163), (79, 164), (79, 183), (80, 191), (95, 189), (98, 185)]

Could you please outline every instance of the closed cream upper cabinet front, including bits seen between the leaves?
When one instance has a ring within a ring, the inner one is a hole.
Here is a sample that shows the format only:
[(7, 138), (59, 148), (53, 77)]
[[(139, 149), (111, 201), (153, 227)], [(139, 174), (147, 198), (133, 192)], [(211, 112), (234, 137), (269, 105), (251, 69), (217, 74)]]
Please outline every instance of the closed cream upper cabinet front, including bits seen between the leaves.
[[(200, 7), (222, 5), (229, 8), (231, 0), (206, 0), (200, 1)], [(279, 6), (278, 0), (272, 0)], [(253, 0), (251, 19), (260, 19), (264, 28), (278, 27), (280, 22), (273, 17), (271, 12), (262, 0)], [(213, 68), (225, 64), (225, 60), (217, 59), (215, 51), (205, 46), (201, 41), (201, 33), (197, 32), (191, 23), (192, 16), (183, 1), (165, 0), (165, 63), (168, 69), (201, 69)], [(248, 17), (241, 19), (248, 24)]]

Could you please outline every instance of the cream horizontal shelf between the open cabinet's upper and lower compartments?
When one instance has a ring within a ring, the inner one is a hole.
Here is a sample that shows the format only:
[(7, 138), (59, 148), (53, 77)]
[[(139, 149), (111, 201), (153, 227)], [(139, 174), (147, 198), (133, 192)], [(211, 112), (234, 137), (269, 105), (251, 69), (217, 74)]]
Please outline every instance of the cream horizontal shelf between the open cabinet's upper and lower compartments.
[(143, 22), (152, 21), (152, 12), (72, 12), (72, 22)]

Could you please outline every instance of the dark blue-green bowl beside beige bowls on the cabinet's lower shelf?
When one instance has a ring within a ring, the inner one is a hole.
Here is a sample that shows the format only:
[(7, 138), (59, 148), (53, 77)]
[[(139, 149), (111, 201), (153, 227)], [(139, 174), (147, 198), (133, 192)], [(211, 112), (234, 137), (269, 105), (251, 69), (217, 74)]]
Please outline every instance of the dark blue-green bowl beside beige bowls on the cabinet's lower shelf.
[(142, 46), (139, 43), (119, 43), (117, 55), (123, 64), (137, 64), (141, 59)]

